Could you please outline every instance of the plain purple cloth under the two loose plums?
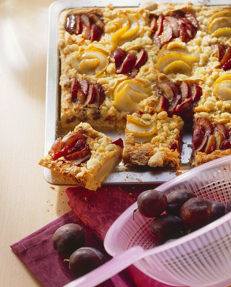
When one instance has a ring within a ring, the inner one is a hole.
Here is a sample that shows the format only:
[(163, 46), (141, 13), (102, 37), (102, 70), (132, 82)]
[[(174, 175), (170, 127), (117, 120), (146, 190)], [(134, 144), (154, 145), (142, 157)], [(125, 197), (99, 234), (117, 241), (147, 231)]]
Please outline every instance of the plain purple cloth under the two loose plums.
[[(100, 250), (106, 261), (111, 258), (103, 246), (94, 238), (90, 229), (84, 225), (73, 211), (70, 211), (10, 246), (43, 286), (61, 287), (75, 279), (69, 271), (68, 264), (63, 262), (64, 259), (69, 257), (59, 253), (52, 246), (55, 231), (60, 226), (68, 223), (76, 223), (84, 228), (85, 246)], [(99, 286), (135, 287), (135, 284), (125, 272), (120, 272)]]

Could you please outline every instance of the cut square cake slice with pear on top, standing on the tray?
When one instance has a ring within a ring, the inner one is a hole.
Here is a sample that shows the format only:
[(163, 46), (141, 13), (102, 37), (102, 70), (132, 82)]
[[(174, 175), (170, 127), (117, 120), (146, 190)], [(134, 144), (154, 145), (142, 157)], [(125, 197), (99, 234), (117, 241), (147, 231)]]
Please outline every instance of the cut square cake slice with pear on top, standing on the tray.
[(127, 115), (123, 162), (178, 168), (183, 125), (179, 116), (170, 118), (165, 111), (154, 115), (142, 112)]

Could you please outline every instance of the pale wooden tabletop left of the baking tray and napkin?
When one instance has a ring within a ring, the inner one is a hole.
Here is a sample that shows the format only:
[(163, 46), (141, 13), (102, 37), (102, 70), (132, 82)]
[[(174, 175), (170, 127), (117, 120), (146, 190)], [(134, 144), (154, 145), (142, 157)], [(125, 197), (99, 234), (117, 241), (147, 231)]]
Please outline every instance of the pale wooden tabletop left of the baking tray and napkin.
[(46, 183), (43, 157), (48, 7), (53, 0), (0, 1), (0, 286), (42, 286), (15, 243), (70, 210), (65, 187)]

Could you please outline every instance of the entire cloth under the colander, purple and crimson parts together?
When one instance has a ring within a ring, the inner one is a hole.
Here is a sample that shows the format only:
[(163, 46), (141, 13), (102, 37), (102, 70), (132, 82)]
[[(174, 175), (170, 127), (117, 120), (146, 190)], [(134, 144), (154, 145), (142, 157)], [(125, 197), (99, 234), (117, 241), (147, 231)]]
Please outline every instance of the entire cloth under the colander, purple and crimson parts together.
[[(11, 248), (44, 286), (61, 287), (72, 281), (74, 277), (69, 272), (68, 264), (63, 263), (63, 259), (68, 257), (60, 254), (52, 246), (54, 232), (67, 223), (79, 224), (85, 230), (85, 246), (100, 250), (108, 261), (111, 257), (103, 248), (103, 240), (109, 227), (135, 202), (139, 193), (154, 187), (153, 185), (141, 185), (139, 192), (132, 186), (126, 187), (127, 192), (116, 186), (104, 186), (96, 192), (83, 187), (68, 188), (66, 189), (69, 197), (68, 204), (73, 211), (26, 236), (11, 245)], [(144, 275), (133, 265), (129, 266), (125, 272), (120, 272), (99, 286), (169, 287)]]

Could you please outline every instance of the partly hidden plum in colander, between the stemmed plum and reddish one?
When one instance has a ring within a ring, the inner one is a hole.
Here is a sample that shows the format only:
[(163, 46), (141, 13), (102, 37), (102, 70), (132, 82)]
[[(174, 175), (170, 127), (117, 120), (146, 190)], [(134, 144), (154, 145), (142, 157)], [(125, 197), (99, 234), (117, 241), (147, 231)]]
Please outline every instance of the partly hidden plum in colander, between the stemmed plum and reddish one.
[(167, 195), (168, 206), (166, 208), (166, 213), (180, 217), (180, 209), (183, 204), (194, 197), (197, 196), (187, 189), (177, 189), (172, 191)]

